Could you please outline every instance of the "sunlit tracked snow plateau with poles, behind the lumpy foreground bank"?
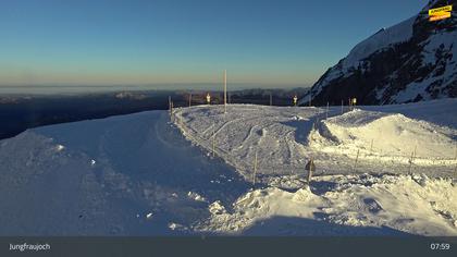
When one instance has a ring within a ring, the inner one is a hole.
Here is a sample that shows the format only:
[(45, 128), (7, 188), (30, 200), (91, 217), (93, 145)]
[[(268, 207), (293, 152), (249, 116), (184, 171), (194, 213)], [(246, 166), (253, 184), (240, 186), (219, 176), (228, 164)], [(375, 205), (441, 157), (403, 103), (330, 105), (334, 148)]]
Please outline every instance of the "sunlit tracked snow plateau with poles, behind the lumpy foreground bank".
[(319, 162), (318, 173), (355, 172), (356, 158), (360, 172), (406, 173), (415, 149), (415, 169), (442, 176), (449, 175), (448, 166), (456, 162), (456, 117), (441, 115), (446, 125), (439, 125), (417, 115), (435, 105), (444, 113), (457, 108), (457, 100), (446, 103), (445, 108), (441, 101), (413, 105), (413, 111), (405, 115), (400, 114), (404, 106), (345, 109), (343, 115), (341, 107), (331, 107), (326, 113), (325, 108), (231, 105), (231, 111), (221, 114), (219, 108), (200, 106), (180, 109), (176, 124), (194, 143), (209, 151), (214, 148), (247, 180), (252, 176), (256, 152), (257, 172), (268, 180), (302, 174), (310, 158)]

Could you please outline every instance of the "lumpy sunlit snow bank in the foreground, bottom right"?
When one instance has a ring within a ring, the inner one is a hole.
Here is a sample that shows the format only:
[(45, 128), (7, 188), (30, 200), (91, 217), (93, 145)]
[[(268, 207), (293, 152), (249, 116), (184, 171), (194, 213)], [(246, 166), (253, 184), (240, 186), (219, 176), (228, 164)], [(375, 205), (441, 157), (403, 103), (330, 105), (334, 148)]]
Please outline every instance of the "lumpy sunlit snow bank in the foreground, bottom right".
[(233, 212), (212, 215), (200, 230), (222, 234), (456, 235), (457, 187), (425, 175), (332, 175), (335, 187), (318, 195), (267, 187), (247, 193)]

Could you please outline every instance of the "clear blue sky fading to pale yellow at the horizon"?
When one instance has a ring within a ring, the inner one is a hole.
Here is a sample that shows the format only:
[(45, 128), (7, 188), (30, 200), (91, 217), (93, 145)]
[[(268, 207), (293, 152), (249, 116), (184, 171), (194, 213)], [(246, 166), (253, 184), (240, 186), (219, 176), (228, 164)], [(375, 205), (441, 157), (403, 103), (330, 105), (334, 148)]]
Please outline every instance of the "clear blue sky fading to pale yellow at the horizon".
[(5, 0), (0, 85), (309, 85), (425, 2)]

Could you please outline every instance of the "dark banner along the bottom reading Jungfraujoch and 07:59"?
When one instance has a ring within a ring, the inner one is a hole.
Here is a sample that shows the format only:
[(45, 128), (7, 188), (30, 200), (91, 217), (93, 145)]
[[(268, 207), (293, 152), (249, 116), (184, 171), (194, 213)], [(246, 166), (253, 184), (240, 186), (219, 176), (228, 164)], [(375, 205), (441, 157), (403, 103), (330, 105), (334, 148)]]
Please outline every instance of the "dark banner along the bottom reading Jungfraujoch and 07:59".
[(457, 237), (0, 237), (0, 256), (457, 256)]

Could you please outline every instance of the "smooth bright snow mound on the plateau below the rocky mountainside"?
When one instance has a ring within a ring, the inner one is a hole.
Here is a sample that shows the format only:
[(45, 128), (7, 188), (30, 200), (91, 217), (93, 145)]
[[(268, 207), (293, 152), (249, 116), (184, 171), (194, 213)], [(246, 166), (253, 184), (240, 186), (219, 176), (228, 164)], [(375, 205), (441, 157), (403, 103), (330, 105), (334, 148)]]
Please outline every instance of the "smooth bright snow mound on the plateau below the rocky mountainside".
[(354, 110), (320, 123), (314, 147), (415, 158), (454, 159), (456, 130), (399, 113)]

